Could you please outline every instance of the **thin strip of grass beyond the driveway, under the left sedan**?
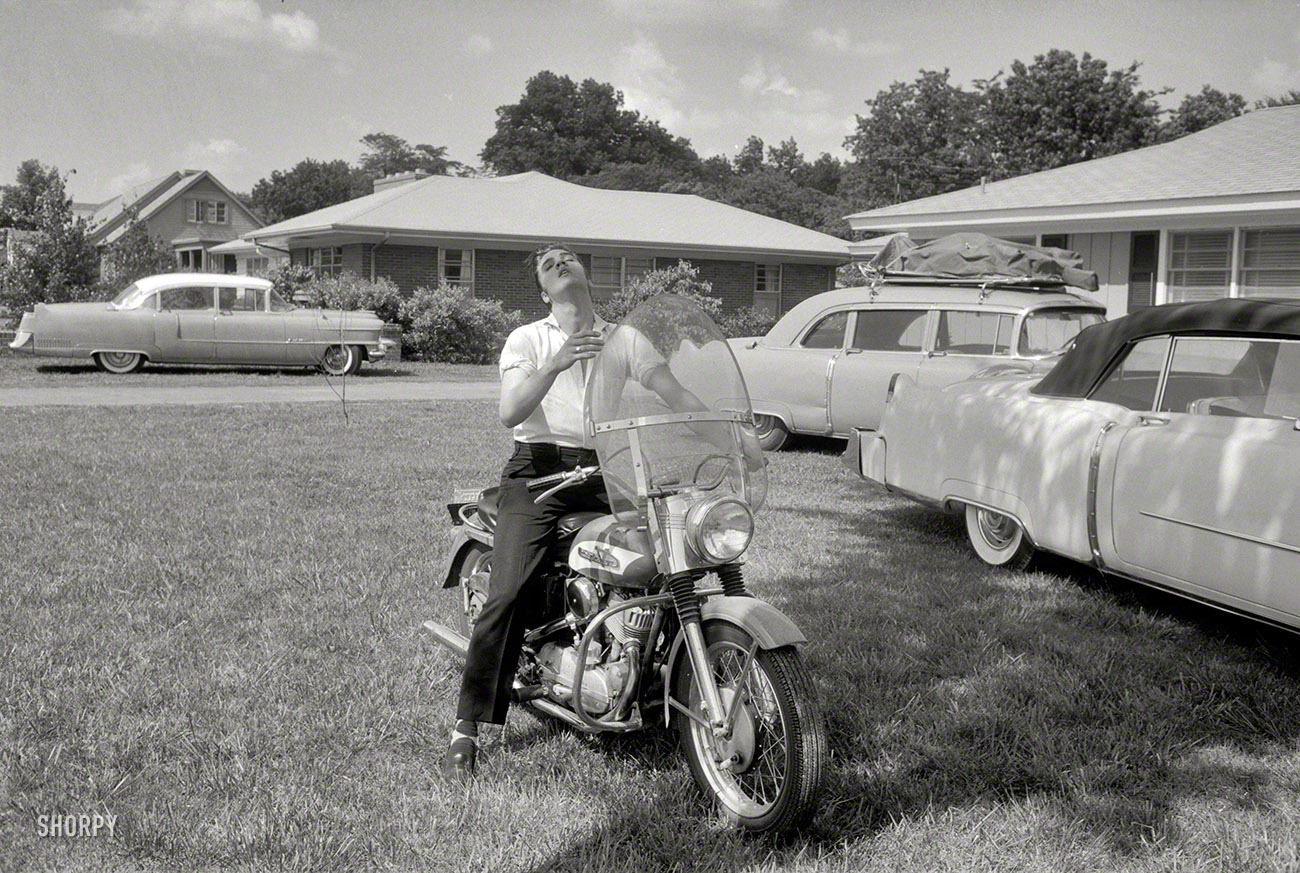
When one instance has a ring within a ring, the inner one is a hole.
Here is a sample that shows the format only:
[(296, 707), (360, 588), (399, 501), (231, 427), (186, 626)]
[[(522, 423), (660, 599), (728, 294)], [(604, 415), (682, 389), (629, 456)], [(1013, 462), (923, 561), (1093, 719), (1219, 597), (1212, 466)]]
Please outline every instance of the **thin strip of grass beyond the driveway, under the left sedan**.
[[(0, 388), (81, 387), (87, 385), (155, 387), (250, 385), (307, 385), (322, 379), (318, 370), (306, 368), (277, 369), (270, 366), (205, 366), (157, 364), (146, 365), (129, 375), (114, 375), (95, 366), (90, 359), (34, 357), (0, 347)], [(360, 379), (395, 379), (415, 382), (495, 382), (493, 364), (434, 364), (430, 361), (381, 361), (363, 364)]]

